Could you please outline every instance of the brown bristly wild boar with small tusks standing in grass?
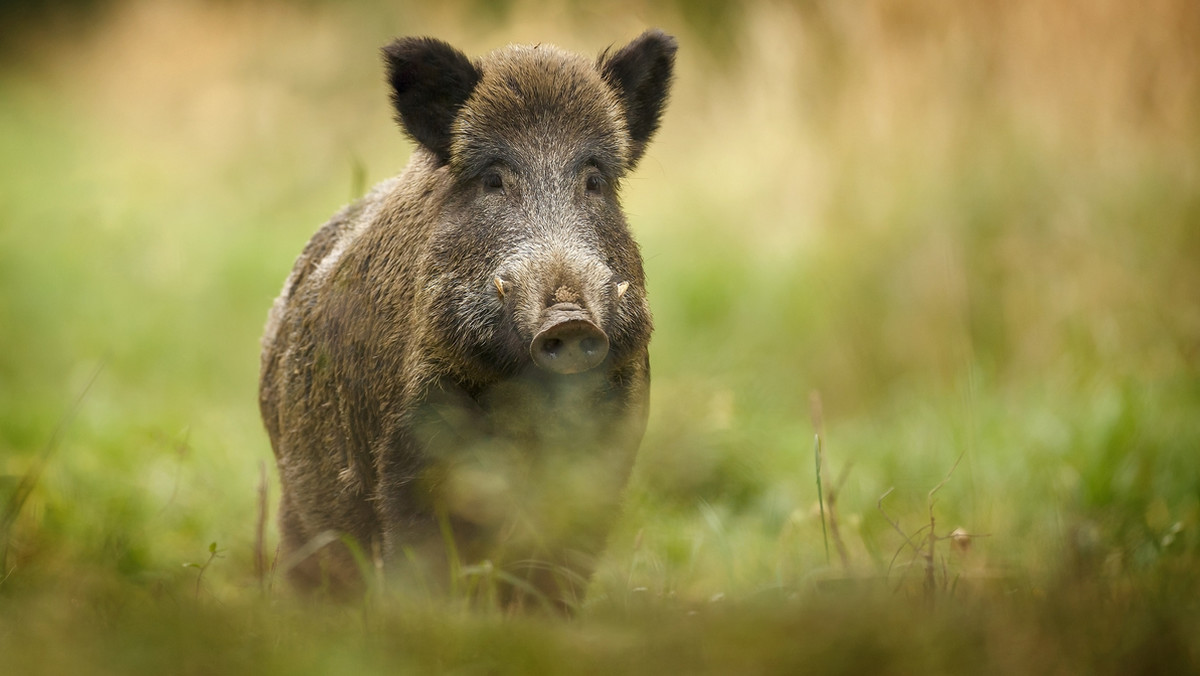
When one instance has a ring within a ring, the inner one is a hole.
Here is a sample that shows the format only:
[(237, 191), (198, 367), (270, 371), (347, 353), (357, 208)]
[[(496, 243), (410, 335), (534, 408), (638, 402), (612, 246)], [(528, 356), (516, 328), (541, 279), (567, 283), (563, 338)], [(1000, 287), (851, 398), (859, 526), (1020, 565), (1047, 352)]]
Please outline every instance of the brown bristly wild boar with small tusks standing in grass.
[(418, 146), (317, 232), (263, 336), (299, 586), (353, 592), (374, 558), (443, 580), (478, 564), (505, 603), (578, 600), (646, 427), (653, 327), (618, 187), (674, 54), (658, 30), (595, 60), (384, 47)]

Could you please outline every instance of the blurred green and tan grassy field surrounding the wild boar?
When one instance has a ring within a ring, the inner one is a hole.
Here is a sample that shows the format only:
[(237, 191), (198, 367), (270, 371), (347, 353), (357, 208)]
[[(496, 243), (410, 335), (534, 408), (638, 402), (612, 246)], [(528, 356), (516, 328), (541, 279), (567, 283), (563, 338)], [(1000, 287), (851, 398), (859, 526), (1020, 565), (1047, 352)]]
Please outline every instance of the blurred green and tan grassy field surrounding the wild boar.
[[(0, 29), (0, 672), (1200, 671), (1193, 2), (85, 5)], [(407, 160), (378, 46), (647, 25), (652, 418), (588, 603), (295, 598), (258, 336)]]

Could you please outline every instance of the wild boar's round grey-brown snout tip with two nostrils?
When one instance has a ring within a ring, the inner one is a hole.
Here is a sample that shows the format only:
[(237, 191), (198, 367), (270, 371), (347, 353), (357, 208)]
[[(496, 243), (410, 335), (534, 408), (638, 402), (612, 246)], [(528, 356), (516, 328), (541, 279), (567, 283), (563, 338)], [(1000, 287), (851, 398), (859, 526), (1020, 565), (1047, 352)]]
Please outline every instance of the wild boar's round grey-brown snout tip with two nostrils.
[(544, 313), (545, 322), (533, 337), (529, 355), (552, 373), (582, 373), (608, 355), (608, 336), (574, 303), (559, 303)]

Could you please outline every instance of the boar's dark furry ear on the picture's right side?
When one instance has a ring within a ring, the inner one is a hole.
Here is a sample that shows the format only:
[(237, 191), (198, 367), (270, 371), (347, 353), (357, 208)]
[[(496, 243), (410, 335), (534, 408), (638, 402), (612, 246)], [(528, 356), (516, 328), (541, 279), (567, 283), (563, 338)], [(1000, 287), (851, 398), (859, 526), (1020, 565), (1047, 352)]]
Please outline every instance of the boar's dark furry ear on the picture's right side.
[(676, 40), (661, 30), (643, 32), (616, 54), (606, 50), (598, 64), (600, 73), (620, 96), (625, 122), (634, 144), (629, 163), (634, 166), (659, 128), (659, 118), (671, 89)]

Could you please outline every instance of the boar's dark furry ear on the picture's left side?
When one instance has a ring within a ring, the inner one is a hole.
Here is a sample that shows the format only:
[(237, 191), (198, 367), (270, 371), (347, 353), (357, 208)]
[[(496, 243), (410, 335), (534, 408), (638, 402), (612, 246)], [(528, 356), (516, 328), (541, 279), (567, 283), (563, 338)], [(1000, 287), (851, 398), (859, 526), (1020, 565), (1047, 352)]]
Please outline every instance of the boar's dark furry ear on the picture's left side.
[(450, 126), (479, 83), (479, 71), (432, 37), (402, 37), (383, 48), (396, 120), (414, 140), (450, 160)]

